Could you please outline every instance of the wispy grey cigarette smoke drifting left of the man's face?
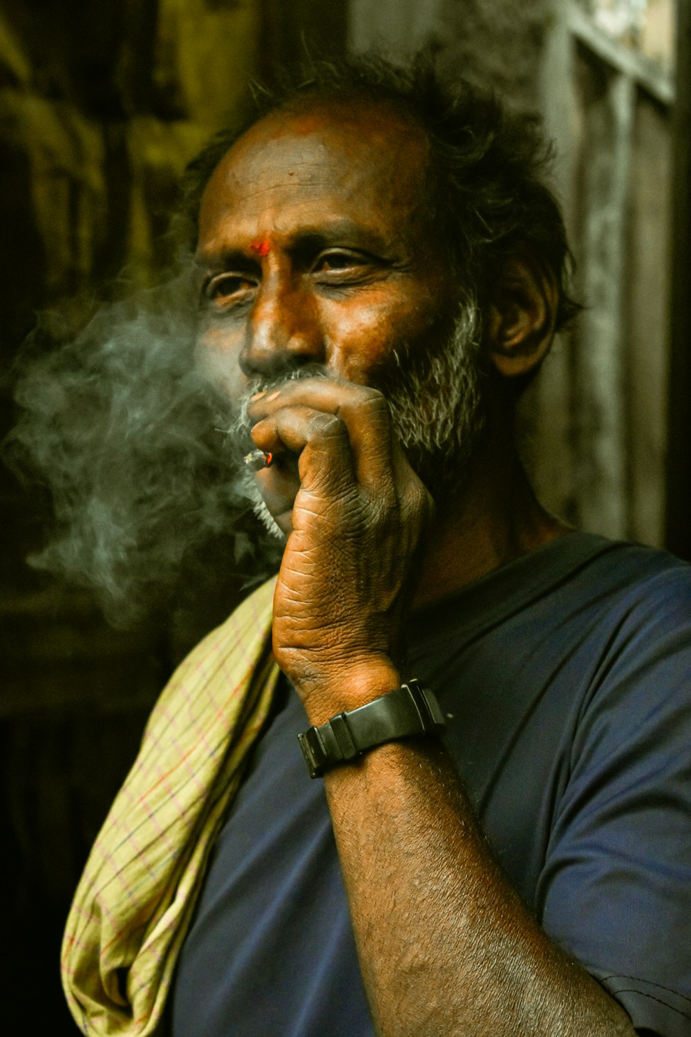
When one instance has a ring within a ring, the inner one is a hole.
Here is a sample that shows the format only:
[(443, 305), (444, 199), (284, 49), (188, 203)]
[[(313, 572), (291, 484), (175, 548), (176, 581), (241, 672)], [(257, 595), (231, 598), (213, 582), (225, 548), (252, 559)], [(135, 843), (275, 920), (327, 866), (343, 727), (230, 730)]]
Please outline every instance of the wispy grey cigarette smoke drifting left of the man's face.
[[(84, 331), (20, 360), (15, 470), (55, 513), (37, 568), (95, 590), (115, 625), (170, 604), (185, 583), (254, 585), (281, 545), (253, 514), (231, 404), (194, 363), (189, 274), (102, 307)], [(206, 571), (202, 571), (206, 568)], [(208, 578), (208, 579), (207, 579)]]

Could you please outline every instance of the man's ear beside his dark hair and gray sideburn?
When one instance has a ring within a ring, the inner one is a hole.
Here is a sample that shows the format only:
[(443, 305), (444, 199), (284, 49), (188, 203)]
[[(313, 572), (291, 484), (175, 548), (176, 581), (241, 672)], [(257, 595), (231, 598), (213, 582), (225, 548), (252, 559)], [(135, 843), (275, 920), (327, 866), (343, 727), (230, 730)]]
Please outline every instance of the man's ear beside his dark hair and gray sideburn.
[(556, 281), (538, 263), (507, 259), (493, 293), (487, 346), (500, 374), (516, 377), (537, 367), (554, 338), (558, 304)]

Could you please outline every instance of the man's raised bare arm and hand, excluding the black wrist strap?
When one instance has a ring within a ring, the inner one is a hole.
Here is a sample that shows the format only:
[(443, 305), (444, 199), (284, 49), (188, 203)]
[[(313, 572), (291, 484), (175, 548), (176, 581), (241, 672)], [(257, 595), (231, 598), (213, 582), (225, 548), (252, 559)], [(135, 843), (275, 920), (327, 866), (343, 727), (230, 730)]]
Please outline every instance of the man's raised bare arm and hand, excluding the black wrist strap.
[[(400, 683), (394, 660), (431, 504), (382, 404), (321, 380), (257, 408), (257, 444), (300, 453), (273, 642), (317, 725)], [(505, 880), (440, 746), (380, 746), (324, 780), (379, 1034), (634, 1033)]]

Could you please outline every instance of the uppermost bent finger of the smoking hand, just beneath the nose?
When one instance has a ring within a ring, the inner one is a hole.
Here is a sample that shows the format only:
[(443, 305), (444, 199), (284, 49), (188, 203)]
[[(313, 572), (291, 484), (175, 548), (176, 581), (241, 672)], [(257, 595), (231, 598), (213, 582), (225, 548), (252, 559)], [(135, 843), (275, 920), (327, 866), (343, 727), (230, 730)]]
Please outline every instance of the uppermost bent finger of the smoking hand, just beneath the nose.
[(337, 379), (297, 379), (255, 399), (248, 414), (251, 420), (261, 420), (293, 405), (341, 419), (348, 430), (357, 481), (370, 491), (391, 485), (391, 415), (380, 392)]

